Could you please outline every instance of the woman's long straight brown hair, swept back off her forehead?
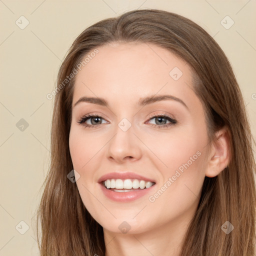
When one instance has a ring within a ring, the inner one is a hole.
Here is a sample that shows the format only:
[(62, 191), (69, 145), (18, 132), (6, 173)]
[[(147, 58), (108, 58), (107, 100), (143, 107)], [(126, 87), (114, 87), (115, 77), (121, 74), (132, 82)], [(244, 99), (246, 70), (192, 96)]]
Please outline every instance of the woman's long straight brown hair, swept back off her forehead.
[[(41, 255), (105, 254), (102, 226), (84, 207), (76, 184), (67, 178), (73, 169), (68, 137), (74, 78), (65, 79), (86, 54), (113, 41), (153, 43), (184, 59), (193, 70), (193, 90), (203, 104), (209, 143), (218, 129), (228, 128), (231, 159), (219, 175), (205, 177), (180, 255), (254, 255), (254, 140), (232, 68), (219, 45), (200, 26), (156, 9), (129, 11), (91, 25), (75, 39), (61, 64), (54, 93), (51, 162), (37, 212)], [(234, 226), (229, 234), (221, 230), (225, 221)]]

